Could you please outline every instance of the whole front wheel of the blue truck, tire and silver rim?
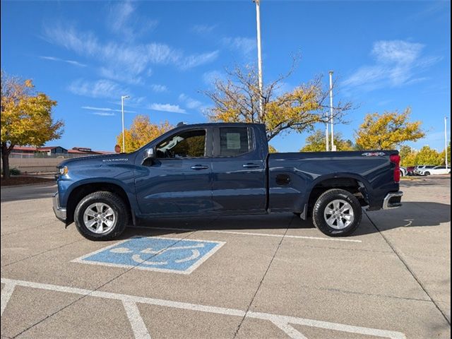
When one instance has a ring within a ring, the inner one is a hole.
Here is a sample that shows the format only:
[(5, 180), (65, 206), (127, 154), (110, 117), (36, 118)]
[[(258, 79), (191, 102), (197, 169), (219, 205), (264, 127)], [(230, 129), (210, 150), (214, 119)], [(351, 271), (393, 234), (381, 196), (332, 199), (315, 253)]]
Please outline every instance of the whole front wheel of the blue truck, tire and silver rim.
[(97, 191), (78, 203), (73, 219), (78, 232), (86, 239), (109, 240), (124, 232), (129, 214), (119, 196), (112, 192)]

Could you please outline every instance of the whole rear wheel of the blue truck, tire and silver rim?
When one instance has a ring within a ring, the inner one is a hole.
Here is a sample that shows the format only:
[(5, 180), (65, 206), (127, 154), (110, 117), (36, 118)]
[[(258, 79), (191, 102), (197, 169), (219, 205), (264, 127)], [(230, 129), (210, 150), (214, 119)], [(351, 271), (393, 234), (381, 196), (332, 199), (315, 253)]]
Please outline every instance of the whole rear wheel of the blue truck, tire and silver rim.
[(355, 232), (362, 219), (356, 196), (343, 189), (324, 192), (314, 204), (314, 226), (330, 237), (345, 237)]

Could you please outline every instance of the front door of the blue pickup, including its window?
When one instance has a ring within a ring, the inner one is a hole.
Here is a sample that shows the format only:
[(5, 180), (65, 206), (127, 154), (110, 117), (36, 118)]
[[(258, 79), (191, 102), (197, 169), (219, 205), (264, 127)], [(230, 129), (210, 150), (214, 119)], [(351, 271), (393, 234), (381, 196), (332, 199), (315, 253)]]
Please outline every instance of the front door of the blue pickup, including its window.
[[(210, 129), (179, 131), (155, 145), (156, 158), (137, 157), (136, 197), (145, 215), (189, 215), (213, 210)], [(139, 165), (138, 165), (139, 164)]]

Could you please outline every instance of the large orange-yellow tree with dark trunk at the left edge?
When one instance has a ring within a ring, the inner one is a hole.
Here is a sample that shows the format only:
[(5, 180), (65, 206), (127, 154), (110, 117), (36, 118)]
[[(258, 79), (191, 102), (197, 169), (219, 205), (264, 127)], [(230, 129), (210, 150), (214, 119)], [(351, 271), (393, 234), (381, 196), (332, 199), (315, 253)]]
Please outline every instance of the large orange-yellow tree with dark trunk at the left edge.
[(41, 146), (58, 139), (64, 122), (52, 119), (57, 102), (37, 93), (31, 80), (1, 71), (1, 161), (3, 177), (9, 179), (9, 155), (15, 145)]

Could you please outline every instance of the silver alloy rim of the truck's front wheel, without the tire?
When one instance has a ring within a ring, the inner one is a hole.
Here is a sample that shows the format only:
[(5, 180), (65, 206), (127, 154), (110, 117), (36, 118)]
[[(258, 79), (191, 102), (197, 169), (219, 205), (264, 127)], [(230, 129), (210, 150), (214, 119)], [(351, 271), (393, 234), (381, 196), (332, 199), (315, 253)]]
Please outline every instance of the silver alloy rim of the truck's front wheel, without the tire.
[(83, 213), (83, 222), (91, 232), (105, 234), (112, 230), (116, 217), (106, 203), (92, 203)]

